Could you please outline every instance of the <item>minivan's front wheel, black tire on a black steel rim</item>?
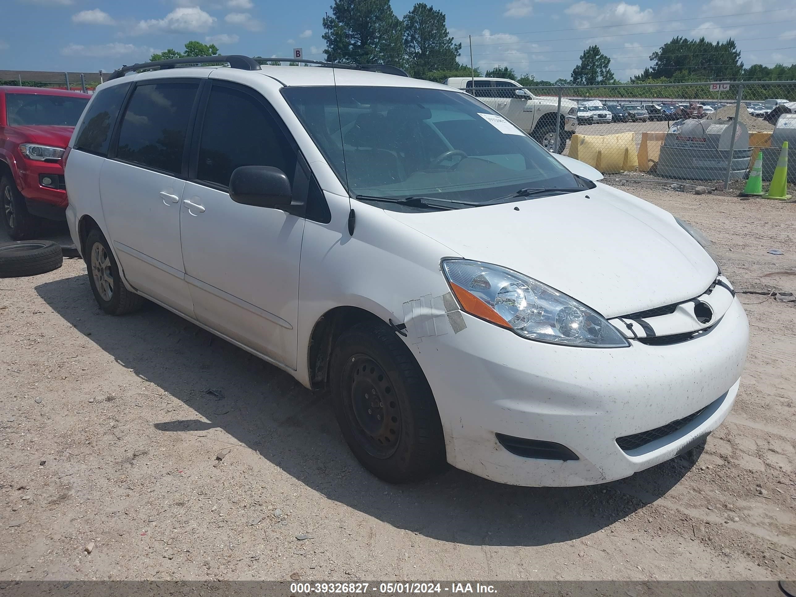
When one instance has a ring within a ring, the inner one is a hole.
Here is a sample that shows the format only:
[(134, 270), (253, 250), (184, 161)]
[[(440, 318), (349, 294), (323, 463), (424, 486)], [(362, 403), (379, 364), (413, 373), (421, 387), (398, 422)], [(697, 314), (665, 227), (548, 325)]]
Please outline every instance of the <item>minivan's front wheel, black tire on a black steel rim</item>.
[(341, 334), (331, 358), (331, 395), (345, 442), (390, 483), (445, 466), (445, 440), (426, 377), (406, 345), (381, 322)]

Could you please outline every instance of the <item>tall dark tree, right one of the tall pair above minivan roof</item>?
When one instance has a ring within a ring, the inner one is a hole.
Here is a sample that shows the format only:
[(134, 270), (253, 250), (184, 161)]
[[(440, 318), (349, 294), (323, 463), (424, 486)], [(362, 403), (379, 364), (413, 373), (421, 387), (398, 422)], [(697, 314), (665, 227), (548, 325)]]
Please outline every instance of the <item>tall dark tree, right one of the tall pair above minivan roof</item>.
[(445, 14), (418, 2), (404, 15), (405, 64), (410, 75), (455, 68), (462, 45), (448, 36)]

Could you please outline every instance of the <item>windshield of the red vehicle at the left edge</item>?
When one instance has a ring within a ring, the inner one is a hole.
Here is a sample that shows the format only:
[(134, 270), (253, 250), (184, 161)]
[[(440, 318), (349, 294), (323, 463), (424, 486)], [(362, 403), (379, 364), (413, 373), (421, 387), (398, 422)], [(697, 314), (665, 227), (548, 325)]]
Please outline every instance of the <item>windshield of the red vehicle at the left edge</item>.
[(6, 121), (10, 127), (74, 127), (90, 99), (90, 96), (6, 93)]

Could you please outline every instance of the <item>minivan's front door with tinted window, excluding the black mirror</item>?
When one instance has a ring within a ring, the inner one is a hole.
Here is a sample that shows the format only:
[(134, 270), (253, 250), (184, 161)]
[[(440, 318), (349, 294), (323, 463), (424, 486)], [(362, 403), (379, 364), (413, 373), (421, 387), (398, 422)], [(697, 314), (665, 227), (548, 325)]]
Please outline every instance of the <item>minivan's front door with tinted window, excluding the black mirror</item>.
[(275, 166), (293, 183), (295, 146), (259, 93), (220, 81), (212, 83), (196, 135), (180, 209), (196, 318), (295, 369), (304, 218), (241, 205), (228, 194), (238, 166)]

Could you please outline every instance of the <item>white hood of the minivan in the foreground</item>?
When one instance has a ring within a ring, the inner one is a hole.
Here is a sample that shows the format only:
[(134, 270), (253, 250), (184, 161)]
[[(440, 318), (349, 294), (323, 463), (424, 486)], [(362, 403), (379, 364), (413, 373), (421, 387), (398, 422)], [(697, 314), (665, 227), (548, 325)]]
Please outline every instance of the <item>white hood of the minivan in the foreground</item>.
[(669, 213), (601, 183), (501, 205), (387, 213), (450, 256), (509, 267), (606, 318), (699, 296), (718, 273)]

